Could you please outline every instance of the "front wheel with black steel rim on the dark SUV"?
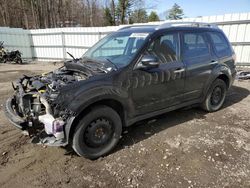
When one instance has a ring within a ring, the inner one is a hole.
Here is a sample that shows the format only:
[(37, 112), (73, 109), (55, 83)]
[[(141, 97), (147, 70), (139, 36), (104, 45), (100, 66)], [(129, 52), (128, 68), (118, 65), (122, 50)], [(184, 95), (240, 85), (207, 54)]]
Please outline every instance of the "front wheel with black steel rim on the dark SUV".
[(116, 146), (121, 133), (122, 122), (118, 113), (108, 106), (96, 106), (79, 121), (72, 147), (79, 156), (97, 159)]

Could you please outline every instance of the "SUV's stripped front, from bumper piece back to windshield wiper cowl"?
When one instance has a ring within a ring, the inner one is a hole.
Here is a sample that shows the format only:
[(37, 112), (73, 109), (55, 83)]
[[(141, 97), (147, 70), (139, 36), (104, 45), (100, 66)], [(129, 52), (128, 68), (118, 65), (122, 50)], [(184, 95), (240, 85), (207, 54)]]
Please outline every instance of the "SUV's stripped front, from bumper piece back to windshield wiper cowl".
[(65, 106), (65, 102), (69, 102), (67, 96), (74, 94), (67, 91), (80, 87), (80, 81), (113, 70), (115, 66), (108, 61), (74, 59), (53, 72), (32, 77), (24, 75), (13, 84), (15, 94), (6, 102), (6, 115), (30, 136), (42, 135), (39, 133), (45, 130), (47, 134), (40, 139), (42, 143), (65, 145), (65, 125), (76, 116), (76, 112)]

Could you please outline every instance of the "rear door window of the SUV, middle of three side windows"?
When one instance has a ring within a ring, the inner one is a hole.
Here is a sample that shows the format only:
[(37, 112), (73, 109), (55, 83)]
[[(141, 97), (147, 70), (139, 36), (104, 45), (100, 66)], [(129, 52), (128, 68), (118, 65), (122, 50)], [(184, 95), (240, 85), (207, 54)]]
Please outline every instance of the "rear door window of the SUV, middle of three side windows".
[(184, 59), (210, 55), (204, 33), (184, 33), (183, 40)]

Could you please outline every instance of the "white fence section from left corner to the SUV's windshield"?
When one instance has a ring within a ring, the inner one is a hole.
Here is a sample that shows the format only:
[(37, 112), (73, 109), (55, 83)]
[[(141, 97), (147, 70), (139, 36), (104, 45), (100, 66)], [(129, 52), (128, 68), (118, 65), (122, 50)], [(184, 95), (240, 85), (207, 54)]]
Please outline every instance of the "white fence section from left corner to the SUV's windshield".
[(39, 60), (70, 58), (66, 52), (80, 57), (102, 37), (119, 28), (120, 26), (30, 30), (34, 57)]

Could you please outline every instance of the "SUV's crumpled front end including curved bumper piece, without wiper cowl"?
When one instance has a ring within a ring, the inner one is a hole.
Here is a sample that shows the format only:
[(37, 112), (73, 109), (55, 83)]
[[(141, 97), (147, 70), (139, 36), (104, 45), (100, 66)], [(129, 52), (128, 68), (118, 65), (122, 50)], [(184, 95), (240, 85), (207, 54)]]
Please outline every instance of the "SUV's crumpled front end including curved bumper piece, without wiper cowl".
[(40, 143), (67, 145), (65, 126), (72, 122), (75, 113), (64, 109), (56, 98), (61, 88), (85, 78), (65, 68), (41, 76), (23, 76), (13, 84), (15, 93), (6, 102), (6, 116), (30, 136), (39, 137)]

